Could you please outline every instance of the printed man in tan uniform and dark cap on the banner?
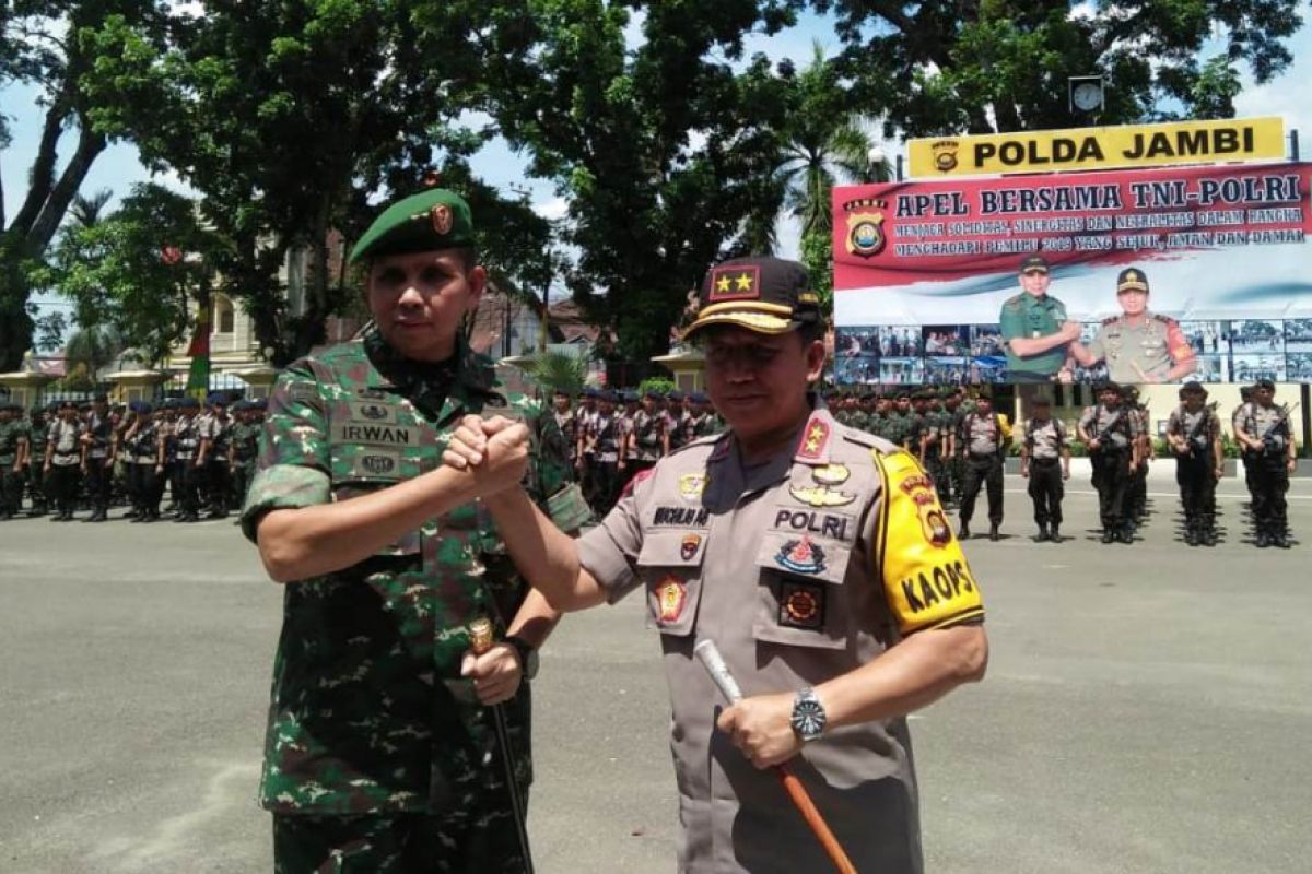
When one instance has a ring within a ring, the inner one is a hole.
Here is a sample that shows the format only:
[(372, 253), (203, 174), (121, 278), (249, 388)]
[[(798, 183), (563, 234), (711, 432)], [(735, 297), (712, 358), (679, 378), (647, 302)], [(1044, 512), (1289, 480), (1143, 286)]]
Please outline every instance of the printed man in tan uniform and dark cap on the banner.
[(1128, 267), (1117, 276), (1120, 314), (1107, 318), (1085, 346), (1071, 343), (1084, 367), (1106, 362), (1107, 379), (1120, 384), (1174, 383), (1198, 370), (1198, 356), (1179, 322), (1148, 312), (1148, 276)]

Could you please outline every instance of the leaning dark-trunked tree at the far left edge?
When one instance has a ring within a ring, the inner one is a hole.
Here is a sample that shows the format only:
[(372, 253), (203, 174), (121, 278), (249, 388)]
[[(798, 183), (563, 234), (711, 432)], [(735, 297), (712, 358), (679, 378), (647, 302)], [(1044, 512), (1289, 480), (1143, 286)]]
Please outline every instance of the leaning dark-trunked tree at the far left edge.
[[(87, 173), (108, 143), (93, 119), (97, 100), (121, 101), (88, 84), (102, 60), (96, 35), (106, 26), (129, 30), (143, 42), (163, 39), (161, 3), (146, 0), (0, 1), (0, 88), (35, 92), (45, 113), (28, 189), (18, 211), (7, 216), (0, 190), (0, 371), (14, 370), (31, 345), (34, 307), (29, 269), (54, 238)], [(60, 143), (67, 160), (60, 166)], [(0, 114), (0, 151), (10, 144)]]

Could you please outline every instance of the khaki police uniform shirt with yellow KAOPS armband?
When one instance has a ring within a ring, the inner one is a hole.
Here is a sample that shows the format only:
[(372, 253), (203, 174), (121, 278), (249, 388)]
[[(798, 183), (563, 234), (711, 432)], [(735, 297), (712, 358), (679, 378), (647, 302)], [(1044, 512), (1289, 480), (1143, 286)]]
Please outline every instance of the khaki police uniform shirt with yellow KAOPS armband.
[[(846, 674), (924, 629), (983, 621), (933, 484), (887, 440), (815, 410), (795, 448), (745, 466), (732, 434), (663, 459), (580, 540), (611, 601), (643, 590), (673, 708), (678, 870), (824, 871), (778, 778), (715, 729), (694, 646), (712, 639), (748, 696)], [(859, 871), (922, 870), (904, 718), (846, 726), (790, 763)]]

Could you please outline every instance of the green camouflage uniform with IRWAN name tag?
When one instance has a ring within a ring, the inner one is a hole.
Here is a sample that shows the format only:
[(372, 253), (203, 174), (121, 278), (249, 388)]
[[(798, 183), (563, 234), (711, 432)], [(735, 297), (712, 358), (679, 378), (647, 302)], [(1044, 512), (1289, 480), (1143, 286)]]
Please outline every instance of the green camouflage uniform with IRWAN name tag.
[[(349, 499), (437, 468), (461, 417), (484, 411), (512, 413), (491, 363), (463, 341), (445, 364), (407, 362), (377, 332), (300, 359), (269, 398), (247, 536), (266, 511)], [(541, 413), (527, 402), (516, 411)], [(541, 499), (564, 484), (567, 461), (535, 456), (529, 487)], [(287, 870), (328, 840), (335, 854), (356, 848), (341, 861), (349, 870), (522, 865), (491, 713), (461, 677), (461, 658), (468, 622), (488, 616), (504, 633), (523, 595), (479, 503), (353, 567), (286, 587), (260, 803), (276, 814)], [(526, 790), (527, 683), (505, 713)], [(407, 819), (424, 823), (413, 829), (422, 846), (396, 844), (391, 826)]]

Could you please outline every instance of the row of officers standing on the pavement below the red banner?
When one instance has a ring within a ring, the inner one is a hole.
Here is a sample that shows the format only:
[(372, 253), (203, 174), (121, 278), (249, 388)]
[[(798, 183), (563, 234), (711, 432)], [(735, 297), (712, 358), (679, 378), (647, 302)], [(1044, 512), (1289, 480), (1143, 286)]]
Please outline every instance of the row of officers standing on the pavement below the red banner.
[[(1245, 482), (1252, 498), (1257, 546), (1290, 546), (1288, 476), (1296, 468), (1290, 410), (1274, 404), (1275, 387), (1263, 380), (1241, 390), (1232, 415)], [(1136, 387), (1102, 384), (1098, 402), (1081, 414), (1072, 435), (1052, 415), (1051, 401), (1038, 398), (1021, 427), (1021, 476), (1029, 481), (1038, 541), (1060, 542), (1064, 481), (1071, 477), (1071, 443), (1088, 449), (1103, 544), (1134, 542), (1148, 506), (1148, 468), (1155, 456), (1147, 406)], [(963, 388), (897, 389), (891, 396), (832, 394), (828, 404), (841, 422), (891, 440), (920, 457), (945, 504), (958, 504), (959, 537), (970, 524), (983, 487), (988, 497), (989, 539), (1002, 524), (1002, 468), (1012, 426), (996, 413), (987, 389), (974, 400)], [(1224, 473), (1220, 419), (1207, 406), (1207, 390), (1187, 383), (1166, 423), (1166, 442), (1176, 457), (1176, 480), (1183, 510), (1183, 540), (1215, 545), (1216, 482)]]

